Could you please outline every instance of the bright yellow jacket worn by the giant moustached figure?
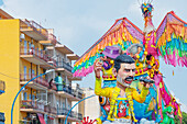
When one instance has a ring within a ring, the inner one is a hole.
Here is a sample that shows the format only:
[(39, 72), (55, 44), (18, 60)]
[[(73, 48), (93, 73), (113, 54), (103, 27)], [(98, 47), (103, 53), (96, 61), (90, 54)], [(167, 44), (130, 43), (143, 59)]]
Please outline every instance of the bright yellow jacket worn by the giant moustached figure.
[[(96, 78), (96, 86), (95, 86), (95, 93), (97, 95), (101, 95), (101, 97), (107, 97), (110, 100), (110, 112), (108, 114), (108, 119), (109, 121), (114, 121), (114, 119), (117, 119), (117, 100), (119, 99), (120, 95), (120, 88), (101, 88), (101, 78), (98, 79)], [(145, 101), (145, 98), (148, 93), (148, 88), (143, 87), (141, 94), (139, 94), (139, 92), (133, 89), (133, 88), (127, 88), (125, 89), (125, 95), (127, 98), (124, 98), (123, 100), (128, 100), (129, 102), (129, 113), (127, 119), (133, 119), (134, 122), (138, 122), (138, 120), (134, 116), (133, 113), (133, 99), (136, 100), (140, 103), (143, 103)], [(122, 98), (120, 98), (121, 100)], [(124, 117), (122, 117), (124, 119)]]

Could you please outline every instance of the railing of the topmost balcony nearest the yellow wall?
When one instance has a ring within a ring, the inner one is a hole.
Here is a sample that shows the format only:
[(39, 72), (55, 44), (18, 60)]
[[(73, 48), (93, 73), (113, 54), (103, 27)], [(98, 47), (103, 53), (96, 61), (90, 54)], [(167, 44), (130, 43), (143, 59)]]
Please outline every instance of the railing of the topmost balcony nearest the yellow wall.
[(46, 29), (42, 27), (40, 24), (37, 24), (34, 21), (29, 21), (29, 20), (24, 20), (23, 21), (26, 26), (22, 25), (21, 29), (33, 29), (34, 31), (38, 32), (40, 34), (44, 35), (45, 37), (47, 37), (48, 32)]

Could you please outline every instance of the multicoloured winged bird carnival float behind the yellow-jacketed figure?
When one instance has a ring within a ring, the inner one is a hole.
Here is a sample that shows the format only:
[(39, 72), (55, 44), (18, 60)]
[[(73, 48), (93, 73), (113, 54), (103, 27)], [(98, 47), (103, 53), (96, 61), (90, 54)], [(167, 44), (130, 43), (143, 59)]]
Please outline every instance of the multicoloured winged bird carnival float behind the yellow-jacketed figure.
[[(174, 11), (168, 12), (155, 30), (152, 23), (152, 3), (141, 4), (144, 18), (144, 30), (141, 31), (127, 18), (118, 19), (107, 33), (98, 40), (74, 65), (74, 77), (86, 77), (95, 70), (95, 61), (102, 63), (102, 89), (114, 88), (117, 76), (113, 74), (114, 59), (119, 55), (129, 55), (135, 61), (135, 76), (130, 87), (141, 92), (141, 81), (152, 83), (143, 103), (133, 100), (131, 106), (121, 101), (116, 108), (116, 116), (127, 116), (127, 108), (131, 111), (133, 123), (174, 124), (174, 116), (183, 119), (180, 104), (170, 94), (160, 71), (160, 60), (166, 65), (187, 67), (187, 23)], [(147, 78), (148, 77), (148, 78)], [(98, 124), (109, 119), (110, 101), (99, 97), (101, 116), (96, 119)], [(92, 124), (84, 119), (82, 124)], [(132, 122), (131, 122), (132, 123)]]

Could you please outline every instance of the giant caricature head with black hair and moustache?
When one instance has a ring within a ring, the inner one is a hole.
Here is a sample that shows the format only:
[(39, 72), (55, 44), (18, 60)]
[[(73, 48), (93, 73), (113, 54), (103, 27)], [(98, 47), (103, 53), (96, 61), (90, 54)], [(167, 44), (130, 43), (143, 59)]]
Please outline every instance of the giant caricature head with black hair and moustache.
[(120, 55), (114, 59), (117, 82), (123, 87), (129, 87), (135, 75), (135, 61), (131, 56)]

